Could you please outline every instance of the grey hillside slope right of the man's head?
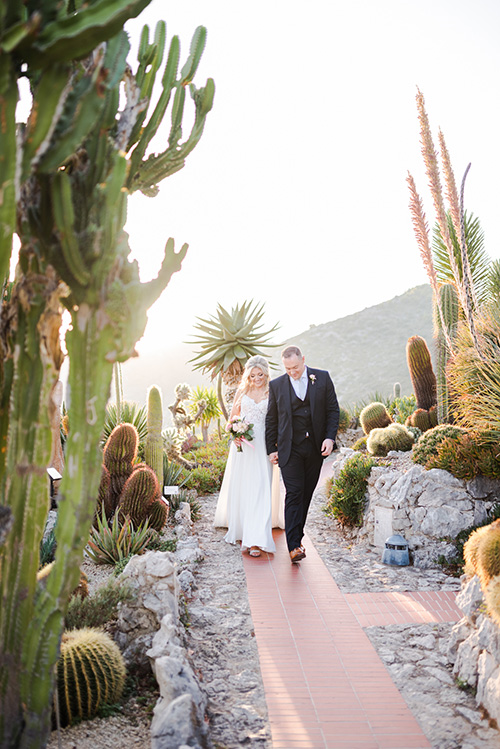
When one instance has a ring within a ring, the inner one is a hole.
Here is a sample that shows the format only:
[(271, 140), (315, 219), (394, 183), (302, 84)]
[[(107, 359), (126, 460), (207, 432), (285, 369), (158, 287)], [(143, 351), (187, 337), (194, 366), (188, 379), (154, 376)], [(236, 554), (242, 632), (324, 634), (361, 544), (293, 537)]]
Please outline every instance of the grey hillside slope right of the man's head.
[(413, 392), (406, 364), (406, 342), (412, 335), (425, 338), (432, 352), (432, 291), (427, 284), (311, 326), (288, 343), (297, 344), (311, 366), (329, 370), (339, 401), (348, 405), (375, 392), (390, 395), (395, 382), (403, 395)]

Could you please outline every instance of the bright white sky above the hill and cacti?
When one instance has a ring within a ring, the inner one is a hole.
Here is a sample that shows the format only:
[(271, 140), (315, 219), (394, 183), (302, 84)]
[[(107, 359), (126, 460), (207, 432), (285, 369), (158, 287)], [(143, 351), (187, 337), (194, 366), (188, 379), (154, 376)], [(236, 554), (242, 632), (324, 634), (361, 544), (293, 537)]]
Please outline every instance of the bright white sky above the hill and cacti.
[(497, 0), (153, 0), (127, 26), (134, 49), (159, 19), (182, 60), (206, 26), (195, 83), (216, 93), (184, 169), (129, 201), (144, 280), (168, 237), (189, 244), (139, 352), (191, 337), (219, 303), (264, 304), (281, 343), (425, 283), (406, 185), (410, 171), (432, 225), (417, 86), (458, 182), (472, 163), (466, 206), (499, 256)]

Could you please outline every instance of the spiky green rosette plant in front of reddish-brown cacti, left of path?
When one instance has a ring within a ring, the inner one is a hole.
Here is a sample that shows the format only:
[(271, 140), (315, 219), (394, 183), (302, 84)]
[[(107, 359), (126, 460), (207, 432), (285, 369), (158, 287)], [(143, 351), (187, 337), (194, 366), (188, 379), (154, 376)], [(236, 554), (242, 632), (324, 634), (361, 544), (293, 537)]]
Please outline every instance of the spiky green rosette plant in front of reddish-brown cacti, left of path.
[(115, 565), (132, 554), (141, 554), (153, 535), (147, 519), (134, 528), (130, 518), (120, 517), (119, 513), (115, 513), (111, 525), (98, 515), (96, 527), (90, 529), (86, 552), (96, 564)]

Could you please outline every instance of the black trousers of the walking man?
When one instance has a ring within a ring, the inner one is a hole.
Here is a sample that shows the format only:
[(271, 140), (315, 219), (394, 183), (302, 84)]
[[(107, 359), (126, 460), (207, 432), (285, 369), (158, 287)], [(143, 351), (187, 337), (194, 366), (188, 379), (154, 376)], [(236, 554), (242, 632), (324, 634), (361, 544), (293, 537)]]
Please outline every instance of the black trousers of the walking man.
[(311, 439), (292, 445), (288, 463), (281, 466), (285, 484), (285, 532), (288, 551), (302, 543), (304, 525), (313, 492), (318, 483), (323, 456)]

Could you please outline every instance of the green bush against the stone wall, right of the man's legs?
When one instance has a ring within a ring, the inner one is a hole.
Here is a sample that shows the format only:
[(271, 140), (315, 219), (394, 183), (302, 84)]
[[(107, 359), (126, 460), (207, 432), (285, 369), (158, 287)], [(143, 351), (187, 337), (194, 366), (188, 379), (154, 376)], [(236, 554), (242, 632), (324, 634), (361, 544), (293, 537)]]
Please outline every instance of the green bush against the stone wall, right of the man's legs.
[(363, 522), (368, 476), (376, 461), (366, 455), (349, 458), (337, 479), (327, 482), (328, 502), (323, 508), (342, 528), (359, 526)]

